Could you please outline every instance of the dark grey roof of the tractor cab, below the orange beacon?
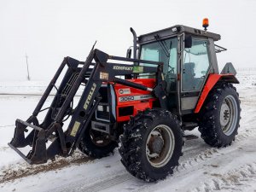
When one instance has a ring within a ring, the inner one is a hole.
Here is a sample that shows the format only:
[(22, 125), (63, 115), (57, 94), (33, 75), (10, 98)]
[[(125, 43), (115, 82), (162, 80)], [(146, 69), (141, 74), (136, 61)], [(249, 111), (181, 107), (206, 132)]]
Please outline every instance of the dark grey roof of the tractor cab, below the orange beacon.
[(166, 29), (161, 29), (156, 32), (149, 32), (147, 34), (141, 35), (138, 37), (138, 44), (146, 44), (151, 41), (155, 41), (155, 36), (158, 35), (159, 38), (169, 38), (177, 34), (191, 34), (193, 36), (199, 36), (199, 37), (207, 37), (207, 38), (212, 38), (214, 41), (218, 41), (220, 39), (220, 35), (217, 33), (213, 32), (207, 32), (205, 30), (201, 29), (196, 29), (192, 28), (189, 26), (182, 26), (182, 25), (177, 25), (177, 26), (172, 26)]

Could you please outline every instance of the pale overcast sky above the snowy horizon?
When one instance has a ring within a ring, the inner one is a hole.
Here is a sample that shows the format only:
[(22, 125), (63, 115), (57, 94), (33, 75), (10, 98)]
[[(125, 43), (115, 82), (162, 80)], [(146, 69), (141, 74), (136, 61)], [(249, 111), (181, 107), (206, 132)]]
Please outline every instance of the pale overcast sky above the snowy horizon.
[[(220, 66), (256, 67), (254, 0), (0, 0), (0, 80), (26, 80), (28, 55), (32, 79), (49, 80), (64, 56), (84, 61), (92, 44), (109, 55), (125, 56), (137, 35), (182, 24), (201, 27), (228, 49)], [(254, 46), (253, 46), (254, 45)]]

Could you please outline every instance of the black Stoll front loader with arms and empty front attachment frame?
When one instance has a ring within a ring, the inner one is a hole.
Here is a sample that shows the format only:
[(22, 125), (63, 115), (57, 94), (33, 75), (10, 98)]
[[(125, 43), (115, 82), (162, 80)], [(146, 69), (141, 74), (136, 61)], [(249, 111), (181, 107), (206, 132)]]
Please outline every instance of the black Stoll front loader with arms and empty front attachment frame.
[[(92, 61), (96, 61), (93, 63)], [(107, 62), (108, 60), (131, 61), (133, 65)], [(139, 63), (149, 63), (156, 67), (139, 66)], [(82, 65), (83, 67), (79, 67)], [(55, 83), (64, 67), (67, 72), (57, 89)], [(138, 90), (152, 91), (158, 97), (162, 108), (166, 108), (164, 79), (162, 79), (163, 63), (156, 61), (143, 61), (124, 57), (108, 55), (101, 50), (92, 49), (85, 62), (66, 57), (49, 83), (44, 95), (38, 102), (32, 116), (26, 121), (17, 119), (15, 136), (9, 143), (11, 148), (20, 154), (29, 164), (41, 164), (47, 160), (55, 159), (55, 155), (68, 156), (77, 148), (85, 129), (90, 123), (92, 114), (101, 101), (99, 89), (103, 82), (107, 84), (124, 84)], [(136, 84), (116, 76), (137, 73), (156, 73), (154, 89), (142, 84)], [(85, 84), (78, 106), (73, 110), (73, 97), (81, 84)], [(42, 109), (44, 102), (53, 88), (57, 89), (53, 102), (49, 108)], [(48, 110), (43, 123), (38, 123), (38, 113)], [(71, 116), (67, 131), (63, 131), (66, 117)], [(29, 128), (32, 131), (25, 137)], [(46, 143), (51, 142), (49, 147)], [(22, 154), (20, 149), (27, 145), (32, 146), (28, 154)]]

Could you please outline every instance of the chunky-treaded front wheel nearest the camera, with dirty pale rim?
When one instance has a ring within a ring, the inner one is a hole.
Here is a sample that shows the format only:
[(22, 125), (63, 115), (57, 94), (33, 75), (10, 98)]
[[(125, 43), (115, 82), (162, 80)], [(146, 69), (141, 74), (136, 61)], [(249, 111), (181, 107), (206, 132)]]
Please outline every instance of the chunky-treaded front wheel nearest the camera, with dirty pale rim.
[(153, 182), (172, 174), (182, 155), (183, 132), (176, 116), (163, 109), (138, 113), (124, 127), (119, 154), (131, 175)]

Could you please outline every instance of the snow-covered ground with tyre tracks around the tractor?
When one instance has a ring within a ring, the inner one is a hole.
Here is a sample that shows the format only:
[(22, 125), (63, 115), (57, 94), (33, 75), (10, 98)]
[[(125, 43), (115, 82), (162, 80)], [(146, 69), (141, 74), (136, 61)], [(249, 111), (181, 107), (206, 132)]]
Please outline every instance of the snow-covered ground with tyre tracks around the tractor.
[[(125, 171), (117, 152), (91, 160), (79, 151), (67, 159), (29, 166), (8, 147), (15, 119), (29, 117), (44, 82), (0, 83), (0, 191), (253, 191), (256, 192), (256, 71), (237, 78), (241, 99), (241, 126), (236, 141), (227, 148), (211, 148), (195, 129), (186, 134), (180, 166), (158, 183), (144, 183)], [(8, 94), (21, 95), (8, 95)], [(49, 101), (48, 101), (49, 103)], [(40, 119), (40, 118), (39, 118)]]

